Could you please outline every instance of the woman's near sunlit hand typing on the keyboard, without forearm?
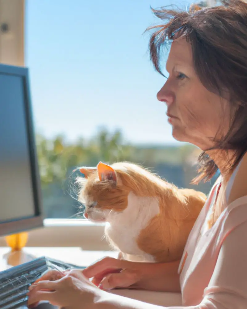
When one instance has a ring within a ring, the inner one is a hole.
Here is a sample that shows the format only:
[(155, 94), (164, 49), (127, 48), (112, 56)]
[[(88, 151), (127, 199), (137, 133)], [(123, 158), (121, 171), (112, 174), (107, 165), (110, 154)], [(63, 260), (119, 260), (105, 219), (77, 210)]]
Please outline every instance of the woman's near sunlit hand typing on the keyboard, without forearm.
[(92, 308), (94, 297), (102, 292), (84, 277), (81, 270), (63, 273), (50, 270), (30, 286), (28, 306), (33, 308), (40, 301), (49, 301), (59, 307), (81, 309), (83, 303), (83, 308)]

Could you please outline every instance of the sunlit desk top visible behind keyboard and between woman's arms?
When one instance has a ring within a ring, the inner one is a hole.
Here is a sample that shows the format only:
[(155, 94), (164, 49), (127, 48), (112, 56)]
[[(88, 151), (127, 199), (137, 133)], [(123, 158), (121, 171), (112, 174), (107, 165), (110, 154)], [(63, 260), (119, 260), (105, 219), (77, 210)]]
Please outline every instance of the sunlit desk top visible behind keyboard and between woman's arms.
[[(0, 247), (0, 256), (9, 252), (9, 248)], [(104, 256), (117, 257), (118, 252), (114, 251), (83, 251), (79, 247), (26, 247), (25, 252), (35, 257), (47, 256), (56, 260), (64, 261), (75, 265), (88, 266), (94, 261)], [(0, 259), (1, 261), (1, 259)], [(0, 270), (11, 266), (6, 265), (5, 261), (0, 262)], [(181, 306), (181, 295), (179, 293), (164, 293), (153, 291), (137, 290), (113, 290), (114, 294), (138, 299), (146, 303), (153, 303), (160, 306)]]

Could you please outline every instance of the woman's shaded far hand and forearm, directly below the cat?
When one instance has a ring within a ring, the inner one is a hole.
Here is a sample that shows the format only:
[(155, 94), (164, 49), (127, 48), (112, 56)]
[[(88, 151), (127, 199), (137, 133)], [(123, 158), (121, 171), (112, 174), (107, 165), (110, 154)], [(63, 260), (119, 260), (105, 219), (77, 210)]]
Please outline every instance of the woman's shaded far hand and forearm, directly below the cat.
[(105, 257), (82, 271), (103, 290), (114, 288), (180, 292), (179, 261), (143, 263)]

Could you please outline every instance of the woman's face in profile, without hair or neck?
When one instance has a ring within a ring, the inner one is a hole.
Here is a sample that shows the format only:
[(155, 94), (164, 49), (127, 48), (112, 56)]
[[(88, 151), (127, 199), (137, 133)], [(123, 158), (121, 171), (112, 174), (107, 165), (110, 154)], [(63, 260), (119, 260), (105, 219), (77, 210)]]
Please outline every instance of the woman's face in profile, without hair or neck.
[(157, 98), (167, 105), (173, 137), (202, 150), (210, 148), (213, 138), (228, 132), (229, 102), (202, 85), (193, 66), (191, 46), (184, 38), (172, 43), (166, 70), (169, 78)]

